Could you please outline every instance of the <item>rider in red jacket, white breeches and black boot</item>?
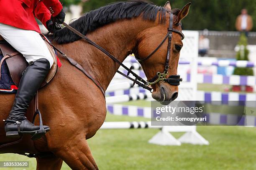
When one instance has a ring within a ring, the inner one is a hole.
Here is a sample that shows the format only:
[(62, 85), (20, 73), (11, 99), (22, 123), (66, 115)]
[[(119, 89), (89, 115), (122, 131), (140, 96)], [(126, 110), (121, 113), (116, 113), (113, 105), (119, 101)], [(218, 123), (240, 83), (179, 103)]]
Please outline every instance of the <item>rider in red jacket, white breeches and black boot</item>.
[[(50, 31), (63, 23), (65, 13), (59, 0), (0, 0), (0, 35), (23, 54), (29, 66), (23, 73), (13, 107), (5, 120), (6, 136), (34, 134), (39, 126), (29, 122), (24, 114), (47, 76), (54, 60), (39, 35), (38, 18)], [(45, 129), (49, 127), (44, 126)]]

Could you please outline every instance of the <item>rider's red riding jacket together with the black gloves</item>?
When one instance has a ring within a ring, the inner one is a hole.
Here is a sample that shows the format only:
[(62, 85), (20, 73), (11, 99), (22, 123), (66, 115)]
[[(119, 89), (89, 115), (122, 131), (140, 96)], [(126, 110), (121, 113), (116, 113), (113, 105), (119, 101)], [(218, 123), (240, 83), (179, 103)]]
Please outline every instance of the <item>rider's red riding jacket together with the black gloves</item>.
[(46, 26), (61, 9), (59, 0), (0, 0), (0, 23), (40, 32), (35, 17)]

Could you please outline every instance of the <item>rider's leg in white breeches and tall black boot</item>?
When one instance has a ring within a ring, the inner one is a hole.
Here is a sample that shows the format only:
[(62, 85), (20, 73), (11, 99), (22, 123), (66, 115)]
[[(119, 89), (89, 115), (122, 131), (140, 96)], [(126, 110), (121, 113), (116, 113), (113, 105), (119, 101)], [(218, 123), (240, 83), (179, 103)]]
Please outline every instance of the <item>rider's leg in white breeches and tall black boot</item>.
[[(0, 35), (22, 53), (29, 63), (20, 80), (13, 107), (6, 120), (5, 132), (7, 136), (13, 137), (18, 136), (19, 133), (33, 134), (39, 126), (29, 122), (24, 114), (54, 61), (44, 40), (35, 31), (0, 23)], [(45, 129), (49, 130), (49, 127), (45, 126)]]

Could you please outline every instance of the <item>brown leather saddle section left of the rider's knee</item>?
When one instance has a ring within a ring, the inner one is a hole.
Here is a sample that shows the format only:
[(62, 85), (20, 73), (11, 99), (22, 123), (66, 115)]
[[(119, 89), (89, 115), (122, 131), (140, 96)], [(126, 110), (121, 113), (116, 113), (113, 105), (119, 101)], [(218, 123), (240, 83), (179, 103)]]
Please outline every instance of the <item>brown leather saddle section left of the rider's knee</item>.
[[(17, 52), (8, 43), (0, 43), (0, 49), (4, 56)], [(6, 58), (5, 61), (8, 65), (10, 76), (13, 79), (14, 84), (18, 86), (20, 83), (22, 73), (28, 66), (26, 59), (23, 57), (22, 54), (18, 53), (13, 57)]]

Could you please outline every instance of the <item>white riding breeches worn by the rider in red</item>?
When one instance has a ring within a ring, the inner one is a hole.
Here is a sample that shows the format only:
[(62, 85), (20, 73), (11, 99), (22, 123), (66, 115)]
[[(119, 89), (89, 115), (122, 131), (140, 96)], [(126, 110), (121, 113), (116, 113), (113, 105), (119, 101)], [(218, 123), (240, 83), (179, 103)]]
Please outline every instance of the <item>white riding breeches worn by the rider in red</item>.
[(33, 30), (23, 30), (10, 25), (0, 23), (0, 35), (23, 54), (28, 63), (40, 58), (46, 58), (53, 65), (54, 60), (39, 33)]

